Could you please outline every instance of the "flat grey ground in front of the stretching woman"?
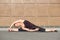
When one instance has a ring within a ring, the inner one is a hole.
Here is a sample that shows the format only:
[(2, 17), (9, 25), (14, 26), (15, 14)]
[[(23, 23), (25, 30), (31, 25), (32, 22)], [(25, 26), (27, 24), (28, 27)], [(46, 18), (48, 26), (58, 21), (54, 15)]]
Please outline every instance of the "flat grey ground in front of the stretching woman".
[(0, 31), (0, 40), (60, 40), (60, 32)]

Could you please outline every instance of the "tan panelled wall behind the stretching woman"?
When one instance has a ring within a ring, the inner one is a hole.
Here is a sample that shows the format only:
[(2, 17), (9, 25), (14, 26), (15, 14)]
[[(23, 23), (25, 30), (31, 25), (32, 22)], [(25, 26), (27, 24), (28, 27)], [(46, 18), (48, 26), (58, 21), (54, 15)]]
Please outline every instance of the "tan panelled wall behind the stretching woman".
[(60, 0), (0, 0), (0, 26), (18, 19), (39, 26), (60, 26)]

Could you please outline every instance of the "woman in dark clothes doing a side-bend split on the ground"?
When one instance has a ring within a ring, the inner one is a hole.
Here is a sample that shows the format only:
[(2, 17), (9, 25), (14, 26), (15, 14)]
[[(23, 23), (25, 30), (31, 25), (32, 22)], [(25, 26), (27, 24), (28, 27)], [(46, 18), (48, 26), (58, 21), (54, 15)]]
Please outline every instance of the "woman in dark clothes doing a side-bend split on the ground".
[[(13, 26), (16, 28), (13, 28)], [(22, 20), (22, 19), (13, 22), (8, 30), (9, 31), (28, 31), (28, 32), (35, 32), (35, 31), (56, 32), (55, 29), (44, 29), (44, 28), (41, 28), (39, 26), (32, 24), (31, 22), (27, 20)]]

